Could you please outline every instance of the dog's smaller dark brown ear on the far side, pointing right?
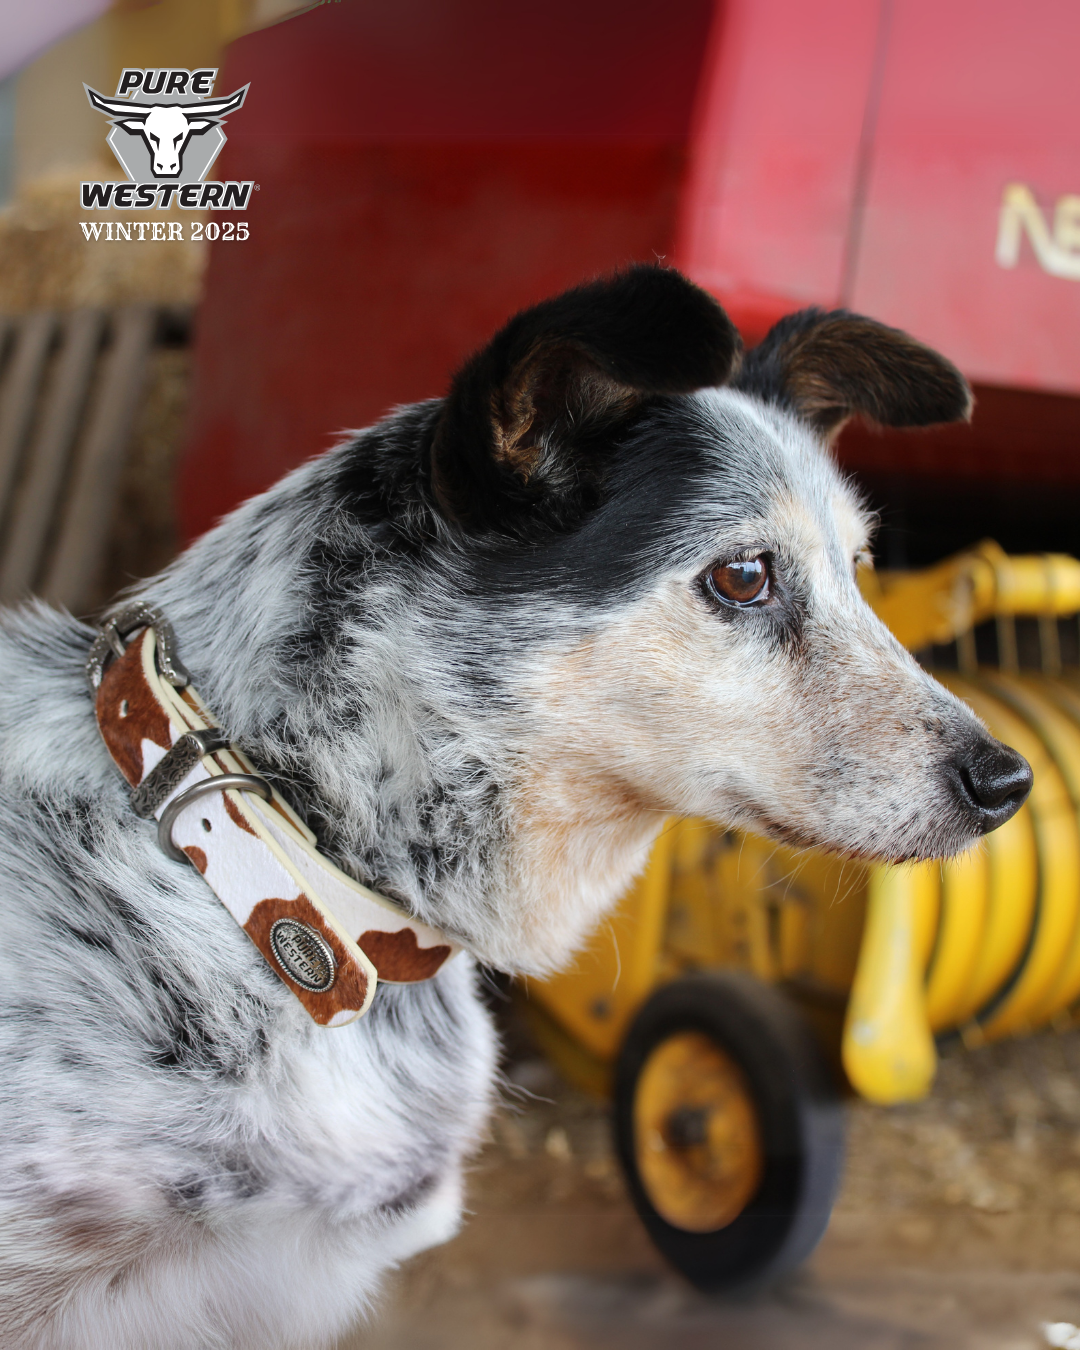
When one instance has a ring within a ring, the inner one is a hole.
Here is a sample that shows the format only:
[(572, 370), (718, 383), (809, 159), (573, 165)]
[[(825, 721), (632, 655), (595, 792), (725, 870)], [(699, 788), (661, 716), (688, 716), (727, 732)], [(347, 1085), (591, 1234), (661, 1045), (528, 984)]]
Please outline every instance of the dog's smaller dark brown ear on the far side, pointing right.
[(899, 328), (802, 309), (747, 354), (736, 387), (780, 404), (826, 436), (861, 413), (883, 427), (971, 417), (972, 393), (950, 362)]

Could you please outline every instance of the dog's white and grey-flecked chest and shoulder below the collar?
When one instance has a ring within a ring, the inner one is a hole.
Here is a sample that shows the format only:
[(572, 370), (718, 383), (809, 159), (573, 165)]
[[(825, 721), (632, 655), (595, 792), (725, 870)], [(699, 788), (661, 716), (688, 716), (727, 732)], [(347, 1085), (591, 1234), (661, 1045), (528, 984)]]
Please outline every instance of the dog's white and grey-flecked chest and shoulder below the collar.
[(315, 1026), (126, 810), (76, 672), (5, 655), (0, 1341), (325, 1345), (456, 1228), (495, 1061), (471, 961)]

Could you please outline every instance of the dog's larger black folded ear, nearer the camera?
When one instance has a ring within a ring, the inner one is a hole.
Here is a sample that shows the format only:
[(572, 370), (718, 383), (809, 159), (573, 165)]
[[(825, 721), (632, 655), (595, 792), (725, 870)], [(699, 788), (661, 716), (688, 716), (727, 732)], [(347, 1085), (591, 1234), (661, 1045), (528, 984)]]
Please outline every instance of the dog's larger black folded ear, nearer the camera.
[(649, 398), (725, 383), (741, 343), (678, 271), (636, 266), (522, 310), (454, 379), (432, 441), (440, 510), (471, 528), (597, 498), (605, 452)]

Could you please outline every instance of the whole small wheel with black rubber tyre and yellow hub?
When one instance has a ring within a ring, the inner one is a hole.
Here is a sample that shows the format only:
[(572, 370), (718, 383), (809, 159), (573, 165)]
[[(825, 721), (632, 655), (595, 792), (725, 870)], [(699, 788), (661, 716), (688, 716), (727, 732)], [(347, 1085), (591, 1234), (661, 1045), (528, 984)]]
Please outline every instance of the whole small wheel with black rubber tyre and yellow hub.
[(798, 1008), (734, 971), (666, 984), (616, 1066), (616, 1149), (663, 1256), (710, 1293), (819, 1242), (844, 1166), (836, 1079)]

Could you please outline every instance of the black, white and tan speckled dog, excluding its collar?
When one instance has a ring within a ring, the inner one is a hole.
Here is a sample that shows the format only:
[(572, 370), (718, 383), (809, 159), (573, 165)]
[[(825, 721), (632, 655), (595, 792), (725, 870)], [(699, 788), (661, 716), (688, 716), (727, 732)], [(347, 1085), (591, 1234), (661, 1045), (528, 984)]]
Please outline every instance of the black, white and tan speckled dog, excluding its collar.
[(459, 1224), (497, 1080), (477, 965), (563, 965), (670, 813), (898, 861), (1008, 818), (1030, 770), (861, 601), (869, 521), (829, 454), (856, 413), (971, 402), (842, 310), (744, 359), (707, 294), (634, 266), (139, 587), (321, 852), (464, 948), (350, 1026), (315, 1025), (134, 813), (93, 630), (8, 612), (3, 1345), (331, 1343)]

